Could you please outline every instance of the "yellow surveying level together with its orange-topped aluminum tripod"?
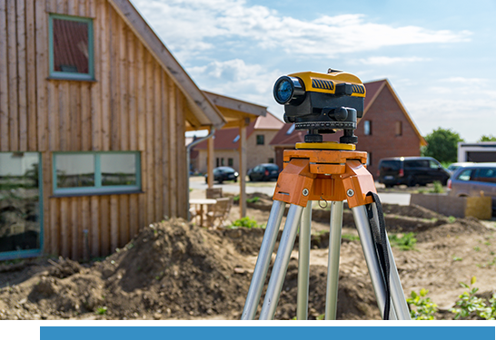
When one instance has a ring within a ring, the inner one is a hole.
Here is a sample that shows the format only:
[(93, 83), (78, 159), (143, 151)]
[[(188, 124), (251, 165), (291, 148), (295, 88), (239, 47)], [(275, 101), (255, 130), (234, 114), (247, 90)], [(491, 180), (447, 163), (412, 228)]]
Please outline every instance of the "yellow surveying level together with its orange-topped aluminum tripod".
[[(308, 129), (310, 138), (305, 136), (304, 143), (296, 143), (296, 150), (284, 151), (283, 171), (274, 190), (273, 207), (253, 270), (242, 321), (255, 318), (286, 203), (290, 208), (259, 320), (273, 320), (298, 229), (296, 317), (298, 321), (307, 320), (314, 200), (331, 202), (325, 320), (336, 320), (345, 199), (352, 209), (382, 320), (410, 321), (410, 311), (385, 230), (381, 201), (372, 175), (365, 166), (367, 152), (355, 151), (354, 143), (342, 140), (340, 143), (322, 142), (322, 136), (317, 138), (320, 133), (339, 129), (349, 131), (343, 137), (352, 136), (356, 118), (362, 117), (363, 112), (365, 89), (362, 82), (351, 73), (333, 70), (328, 74), (293, 73), (279, 78), (273, 92), (275, 100), (284, 105), (284, 120), (294, 122), (297, 129)], [(308, 124), (311, 124), (310, 128)]]

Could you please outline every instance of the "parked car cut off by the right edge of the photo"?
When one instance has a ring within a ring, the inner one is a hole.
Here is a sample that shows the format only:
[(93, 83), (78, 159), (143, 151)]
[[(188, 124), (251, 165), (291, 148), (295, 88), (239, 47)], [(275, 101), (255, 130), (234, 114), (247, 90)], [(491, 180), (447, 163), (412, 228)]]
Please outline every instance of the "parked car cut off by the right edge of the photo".
[(448, 181), (448, 195), (492, 197), (492, 211), (496, 210), (496, 163), (474, 163), (453, 172)]

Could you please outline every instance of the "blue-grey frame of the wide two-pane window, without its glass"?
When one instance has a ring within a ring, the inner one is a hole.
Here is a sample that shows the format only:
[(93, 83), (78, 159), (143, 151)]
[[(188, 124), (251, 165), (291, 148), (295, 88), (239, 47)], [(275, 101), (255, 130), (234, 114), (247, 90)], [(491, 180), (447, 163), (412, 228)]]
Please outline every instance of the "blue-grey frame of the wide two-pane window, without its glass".
[[(93, 187), (73, 187), (57, 188), (57, 156), (61, 155), (94, 155), (94, 186)], [(136, 184), (134, 185), (102, 185), (102, 161), (101, 155), (110, 154), (133, 154), (136, 164)], [(93, 196), (93, 195), (114, 195), (142, 193), (142, 173), (141, 173), (141, 152), (140, 151), (60, 151), (52, 154), (52, 183), (54, 197), (67, 196)]]

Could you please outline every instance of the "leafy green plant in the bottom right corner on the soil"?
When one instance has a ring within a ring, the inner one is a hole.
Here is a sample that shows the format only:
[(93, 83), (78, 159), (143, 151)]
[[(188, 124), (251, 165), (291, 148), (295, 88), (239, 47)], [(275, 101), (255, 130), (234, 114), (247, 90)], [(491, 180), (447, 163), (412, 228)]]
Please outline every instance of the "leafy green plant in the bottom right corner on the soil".
[(476, 277), (471, 277), (470, 285), (463, 282), (460, 283), (461, 287), (469, 289), (458, 296), (458, 301), (455, 303), (456, 307), (450, 309), (454, 313), (455, 320), (459, 318), (468, 318), (471, 316), (479, 316), (486, 321), (496, 320), (496, 294), (493, 294), (489, 299), (490, 305), (487, 306), (485, 301), (475, 295), (479, 288), (472, 287), (476, 282)]

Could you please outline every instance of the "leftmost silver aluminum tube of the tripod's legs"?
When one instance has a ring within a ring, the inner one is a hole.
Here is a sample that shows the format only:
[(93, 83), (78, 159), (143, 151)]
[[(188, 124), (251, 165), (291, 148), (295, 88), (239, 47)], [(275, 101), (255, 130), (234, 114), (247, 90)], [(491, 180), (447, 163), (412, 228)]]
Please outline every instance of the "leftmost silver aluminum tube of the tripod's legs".
[(256, 308), (260, 301), (260, 296), (262, 296), (263, 283), (265, 282), (265, 277), (271, 263), (273, 248), (279, 227), (281, 226), (281, 220), (283, 219), (285, 205), (280, 200), (273, 201), (273, 208), (271, 209), (267, 227), (263, 234), (262, 246), (253, 270), (252, 283), (246, 296), (243, 315), (241, 317), (242, 321), (253, 321), (255, 319)]

